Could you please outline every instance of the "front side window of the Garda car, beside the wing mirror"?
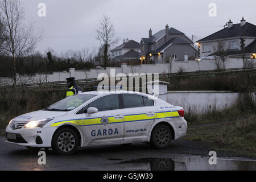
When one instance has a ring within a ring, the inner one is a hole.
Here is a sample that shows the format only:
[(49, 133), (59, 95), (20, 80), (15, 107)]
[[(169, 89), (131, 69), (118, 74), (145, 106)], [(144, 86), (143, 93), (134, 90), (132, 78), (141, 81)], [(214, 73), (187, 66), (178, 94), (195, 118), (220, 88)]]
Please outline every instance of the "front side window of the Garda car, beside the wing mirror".
[(91, 102), (89, 107), (96, 107), (98, 111), (119, 109), (118, 94), (98, 98)]

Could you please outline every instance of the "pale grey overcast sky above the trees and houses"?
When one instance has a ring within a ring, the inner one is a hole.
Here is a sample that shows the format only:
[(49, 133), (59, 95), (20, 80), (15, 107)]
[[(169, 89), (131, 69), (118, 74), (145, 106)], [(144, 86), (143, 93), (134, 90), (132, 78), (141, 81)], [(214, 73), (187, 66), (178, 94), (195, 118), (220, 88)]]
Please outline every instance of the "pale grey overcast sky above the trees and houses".
[[(166, 24), (184, 32), (189, 38), (204, 38), (224, 26), (229, 18), (240, 23), (256, 24), (255, 0), (22, 0), (26, 20), (33, 20), (36, 31), (43, 30), (44, 38), (36, 49), (47, 47), (56, 52), (100, 46), (96, 40), (97, 23), (103, 14), (110, 16), (115, 33), (140, 42)], [(38, 16), (38, 4), (46, 4), (46, 17)], [(209, 16), (209, 4), (215, 3), (216, 17)], [(118, 46), (118, 45), (116, 45)]]

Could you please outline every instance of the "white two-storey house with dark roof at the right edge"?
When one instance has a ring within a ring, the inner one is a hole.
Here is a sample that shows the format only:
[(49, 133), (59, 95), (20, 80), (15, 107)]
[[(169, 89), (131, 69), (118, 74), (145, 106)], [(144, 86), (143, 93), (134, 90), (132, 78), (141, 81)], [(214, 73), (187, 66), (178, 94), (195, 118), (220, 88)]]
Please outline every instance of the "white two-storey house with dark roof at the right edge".
[(231, 20), (225, 28), (197, 41), (200, 57), (226, 52), (229, 57), (251, 57), (256, 52), (256, 26), (246, 22), (233, 24)]

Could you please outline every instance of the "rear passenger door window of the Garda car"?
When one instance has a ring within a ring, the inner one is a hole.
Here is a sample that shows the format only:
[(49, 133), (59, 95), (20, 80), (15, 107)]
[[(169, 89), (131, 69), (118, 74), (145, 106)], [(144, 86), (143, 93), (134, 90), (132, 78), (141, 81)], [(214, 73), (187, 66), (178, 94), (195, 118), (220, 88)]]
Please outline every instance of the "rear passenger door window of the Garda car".
[(142, 96), (134, 94), (123, 94), (123, 108), (143, 107)]

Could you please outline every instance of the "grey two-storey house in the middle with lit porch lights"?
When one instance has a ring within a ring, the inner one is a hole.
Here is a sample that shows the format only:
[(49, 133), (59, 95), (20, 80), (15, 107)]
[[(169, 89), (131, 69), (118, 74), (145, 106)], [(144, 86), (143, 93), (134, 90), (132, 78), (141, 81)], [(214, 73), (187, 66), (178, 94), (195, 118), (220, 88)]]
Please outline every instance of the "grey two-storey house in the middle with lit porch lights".
[(188, 61), (198, 55), (193, 42), (183, 32), (175, 28), (166, 28), (148, 38), (141, 39), (141, 63), (164, 63), (170, 60)]

